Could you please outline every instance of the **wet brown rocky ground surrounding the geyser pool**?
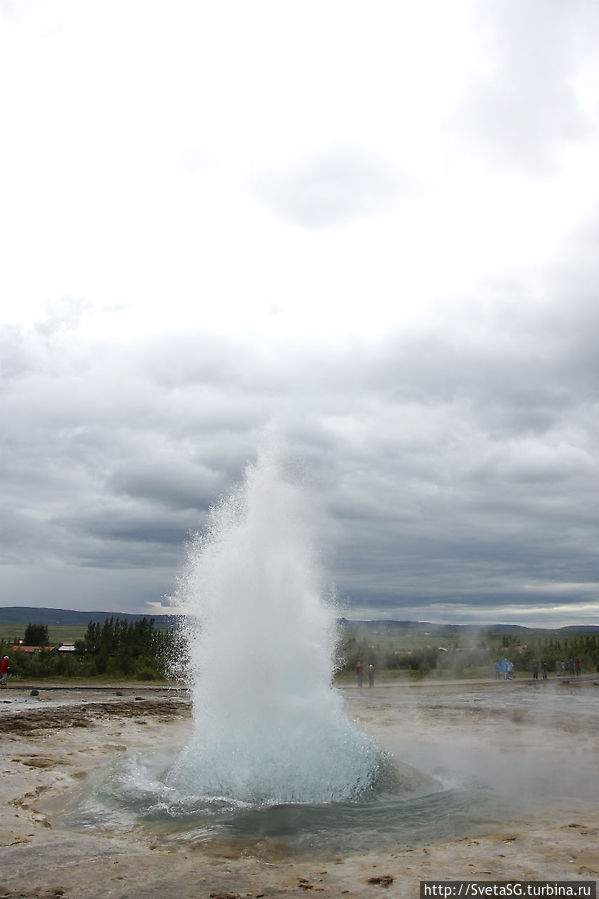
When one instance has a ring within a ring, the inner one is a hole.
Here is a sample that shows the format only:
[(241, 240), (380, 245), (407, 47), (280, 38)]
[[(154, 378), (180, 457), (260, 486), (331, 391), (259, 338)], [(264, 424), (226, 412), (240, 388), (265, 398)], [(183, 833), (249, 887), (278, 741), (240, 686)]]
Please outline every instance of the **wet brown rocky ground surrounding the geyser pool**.
[[(513, 814), (472, 833), (331, 855), (274, 840), (173, 843), (151, 828), (65, 823), (98, 767), (181, 745), (176, 691), (47, 691), (0, 698), (0, 897), (419, 895), (423, 879), (594, 881), (599, 873), (599, 686), (463, 682), (343, 689), (348, 714), (421, 770), (476, 771)], [(384, 842), (384, 841), (382, 841)]]

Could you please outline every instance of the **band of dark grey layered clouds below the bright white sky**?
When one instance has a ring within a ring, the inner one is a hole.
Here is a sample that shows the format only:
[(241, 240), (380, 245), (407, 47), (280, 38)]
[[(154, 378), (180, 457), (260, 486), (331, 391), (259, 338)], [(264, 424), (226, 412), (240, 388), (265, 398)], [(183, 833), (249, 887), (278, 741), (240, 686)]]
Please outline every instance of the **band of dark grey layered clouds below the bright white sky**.
[(5, 601), (57, 604), (76, 592), (67, 571), (76, 582), (91, 567), (113, 605), (159, 602), (271, 422), (327, 508), (350, 609), (439, 617), (447, 603), (455, 618), (515, 604), (542, 618), (545, 601), (593, 599), (596, 363), (580, 357), (593, 316), (563, 300), (502, 319), (502, 335), (488, 307), (470, 309), (460, 331), (298, 344), (274, 369), (226, 340), (198, 363), (201, 333), (92, 352), (68, 327), (7, 331)]

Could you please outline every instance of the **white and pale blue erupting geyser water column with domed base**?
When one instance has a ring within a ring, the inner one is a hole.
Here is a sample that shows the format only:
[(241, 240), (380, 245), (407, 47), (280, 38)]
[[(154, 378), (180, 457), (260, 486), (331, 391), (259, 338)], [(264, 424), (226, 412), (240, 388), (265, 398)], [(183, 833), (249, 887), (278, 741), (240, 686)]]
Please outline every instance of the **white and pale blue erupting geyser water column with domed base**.
[(331, 686), (336, 611), (315, 542), (303, 488), (262, 453), (191, 543), (177, 599), (194, 726), (167, 778), (179, 793), (322, 803), (374, 785), (383, 754)]

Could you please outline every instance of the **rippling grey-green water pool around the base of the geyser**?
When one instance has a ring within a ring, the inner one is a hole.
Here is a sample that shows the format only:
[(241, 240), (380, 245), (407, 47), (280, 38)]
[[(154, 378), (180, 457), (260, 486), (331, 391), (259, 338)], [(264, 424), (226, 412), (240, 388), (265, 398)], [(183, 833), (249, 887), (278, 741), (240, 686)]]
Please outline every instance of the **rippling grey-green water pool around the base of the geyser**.
[(389, 759), (369, 795), (352, 802), (252, 805), (177, 794), (166, 752), (120, 757), (61, 815), (76, 829), (123, 832), (162, 843), (275, 842), (289, 851), (363, 852), (472, 834), (499, 820), (500, 797), (476, 780), (444, 781)]

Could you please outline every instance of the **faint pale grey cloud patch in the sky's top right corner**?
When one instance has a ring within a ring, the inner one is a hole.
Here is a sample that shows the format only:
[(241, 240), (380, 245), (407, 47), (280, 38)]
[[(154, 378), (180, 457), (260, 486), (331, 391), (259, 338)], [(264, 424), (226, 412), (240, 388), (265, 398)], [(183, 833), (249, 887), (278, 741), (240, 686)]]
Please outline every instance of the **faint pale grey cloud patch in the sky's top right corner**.
[(584, 0), (475, 4), (481, 58), (466, 94), (466, 120), (487, 153), (533, 174), (559, 165), (564, 145), (593, 133), (581, 70), (599, 32)]

